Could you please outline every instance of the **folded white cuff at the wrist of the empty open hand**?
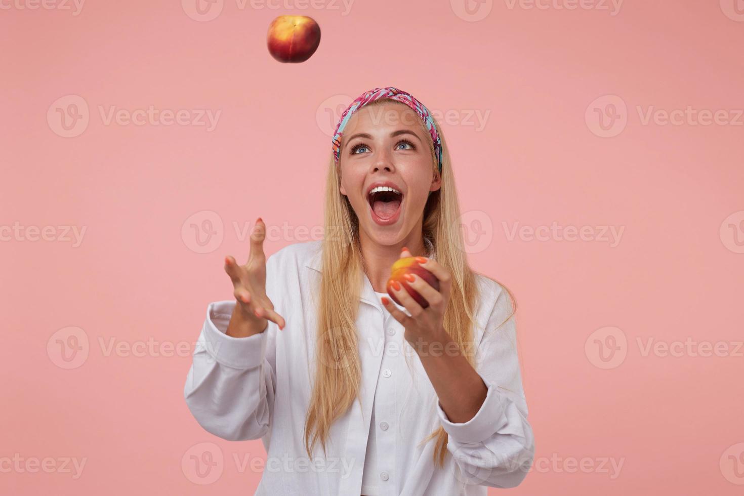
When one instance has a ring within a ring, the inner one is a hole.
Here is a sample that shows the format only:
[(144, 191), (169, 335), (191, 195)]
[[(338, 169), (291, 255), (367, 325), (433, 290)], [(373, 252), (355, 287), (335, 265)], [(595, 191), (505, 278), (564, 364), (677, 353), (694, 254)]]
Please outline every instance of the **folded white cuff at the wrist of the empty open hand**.
[(267, 326), (263, 332), (234, 338), (225, 332), (237, 302), (216, 301), (207, 307), (207, 318), (204, 321), (202, 335), (205, 338), (205, 349), (219, 364), (237, 369), (258, 367), (266, 358)]

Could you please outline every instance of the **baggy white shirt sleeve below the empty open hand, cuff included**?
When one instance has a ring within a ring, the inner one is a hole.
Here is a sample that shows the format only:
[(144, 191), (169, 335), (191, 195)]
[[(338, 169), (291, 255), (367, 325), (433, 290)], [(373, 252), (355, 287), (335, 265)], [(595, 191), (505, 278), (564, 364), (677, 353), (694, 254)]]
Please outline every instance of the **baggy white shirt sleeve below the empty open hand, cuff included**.
[(259, 439), (271, 427), (276, 384), (275, 329), (225, 334), (235, 301), (210, 303), (196, 342), (184, 396), (196, 421), (215, 436)]

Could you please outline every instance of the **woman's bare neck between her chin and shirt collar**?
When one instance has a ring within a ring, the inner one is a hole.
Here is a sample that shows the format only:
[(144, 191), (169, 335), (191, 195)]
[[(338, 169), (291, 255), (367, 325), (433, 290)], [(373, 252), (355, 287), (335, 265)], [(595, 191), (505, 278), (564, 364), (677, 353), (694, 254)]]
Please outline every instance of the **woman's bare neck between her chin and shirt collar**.
[(385, 285), (390, 278), (390, 268), (400, 258), (403, 247), (408, 248), (414, 257), (426, 256), (426, 246), (421, 233), (421, 223), (417, 225), (408, 236), (394, 245), (380, 245), (371, 239), (363, 230), (359, 230), (359, 245), (362, 249), (362, 257), (367, 267), (367, 277), (372, 288), (379, 293), (385, 293)]

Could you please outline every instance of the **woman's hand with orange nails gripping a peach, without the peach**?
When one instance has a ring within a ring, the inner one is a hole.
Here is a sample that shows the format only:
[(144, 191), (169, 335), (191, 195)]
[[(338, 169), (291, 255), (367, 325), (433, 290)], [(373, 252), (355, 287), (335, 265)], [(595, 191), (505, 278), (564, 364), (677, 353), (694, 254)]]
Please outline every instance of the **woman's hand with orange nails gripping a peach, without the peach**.
[[(401, 254), (401, 258), (411, 257), (411, 253), (404, 249)], [(429, 306), (426, 309), (422, 308), (407, 291), (403, 285), (399, 285), (400, 289), (396, 291), (395, 288), (392, 292), (400, 301), (400, 304), (408, 310), (410, 316), (405, 315), (405, 312), (398, 309), (389, 298), (382, 298), (382, 305), (385, 309), (390, 312), (393, 318), (403, 324), (405, 329), (405, 340), (414, 346), (414, 349), (420, 351), (417, 344), (429, 344), (431, 341), (449, 341), (446, 338), (446, 331), (444, 329), (444, 312), (449, 304), (449, 291), (451, 289), (452, 277), (449, 271), (439, 265), (434, 260), (426, 257), (417, 257), (417, 261), (422, 268), (426, 268), (434, 274), (439, 280), (439, 291), (434, 289), (429, 283), (421, 279), (415, 274), (406, 274), (406, 283), (411, 289), (414, 289), (420, 294), (427, 302)]]

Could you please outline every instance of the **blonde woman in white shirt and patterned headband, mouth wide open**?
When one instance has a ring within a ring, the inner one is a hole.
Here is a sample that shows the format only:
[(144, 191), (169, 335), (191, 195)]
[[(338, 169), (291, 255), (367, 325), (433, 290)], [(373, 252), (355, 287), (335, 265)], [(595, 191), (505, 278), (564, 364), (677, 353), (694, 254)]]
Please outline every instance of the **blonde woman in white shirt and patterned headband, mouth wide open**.
[[(512, 300), (467, 265), (455, 179), (429, 111), (397, 88), (341, 116), (322, 242), (266, 260), (257, 219), (235, 300), (211, 303), (185, 397), (224, 439), (263, 439), (257, 495), (486, 495), (532, 465)], [(406, 248), (407, 247), (407, 248)], [(385, 294), (391, 265), (421, 277)]]

